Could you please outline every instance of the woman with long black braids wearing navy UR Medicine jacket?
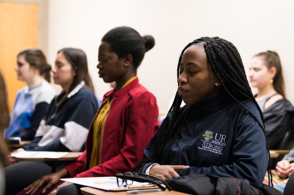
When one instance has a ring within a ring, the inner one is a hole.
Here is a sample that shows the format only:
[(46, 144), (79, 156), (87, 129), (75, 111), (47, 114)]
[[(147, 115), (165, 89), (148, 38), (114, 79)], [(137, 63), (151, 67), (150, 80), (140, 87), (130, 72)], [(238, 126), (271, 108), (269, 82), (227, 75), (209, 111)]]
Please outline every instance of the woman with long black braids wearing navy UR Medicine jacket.
[(236, 177), (260, 188), (270, 154), (237, 48), (218, 37), (199, 38), (183, 49), (177, 71), (173, 105), (135, 171), (163, 180), (192, 173)]

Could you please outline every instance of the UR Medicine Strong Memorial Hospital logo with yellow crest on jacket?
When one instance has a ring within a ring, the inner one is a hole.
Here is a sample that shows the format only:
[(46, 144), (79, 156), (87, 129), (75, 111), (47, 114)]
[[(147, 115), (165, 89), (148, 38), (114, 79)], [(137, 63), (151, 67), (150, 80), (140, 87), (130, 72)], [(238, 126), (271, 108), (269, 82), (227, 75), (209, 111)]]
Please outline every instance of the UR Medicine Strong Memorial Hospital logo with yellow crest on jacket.
[(223, 154), (223, 148), (225, 147), (225, 135), (221, 135), (218, 133), (215, 133), (215, 136), (213, 136), (212, 131), (205, 131), (203, 134), (203, 139), (201, 139), (202, 147), (198, 147), (198, 149), (203, 149), (209, 152), (213, 152), (216, 154)]

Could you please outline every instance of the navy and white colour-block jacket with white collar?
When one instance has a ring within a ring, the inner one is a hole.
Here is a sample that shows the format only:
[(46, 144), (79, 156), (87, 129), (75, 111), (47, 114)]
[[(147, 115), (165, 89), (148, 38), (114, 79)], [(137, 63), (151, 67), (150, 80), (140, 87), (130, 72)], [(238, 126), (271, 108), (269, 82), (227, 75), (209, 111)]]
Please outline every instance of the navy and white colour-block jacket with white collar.
[(62, 103), (64, 91), (51, 101), (40, 122), (35, 138), (23, 148), (26, 151), (78, 152), (88, 135), (88, 128), (98, 110), (94, 93), (79, 83)]

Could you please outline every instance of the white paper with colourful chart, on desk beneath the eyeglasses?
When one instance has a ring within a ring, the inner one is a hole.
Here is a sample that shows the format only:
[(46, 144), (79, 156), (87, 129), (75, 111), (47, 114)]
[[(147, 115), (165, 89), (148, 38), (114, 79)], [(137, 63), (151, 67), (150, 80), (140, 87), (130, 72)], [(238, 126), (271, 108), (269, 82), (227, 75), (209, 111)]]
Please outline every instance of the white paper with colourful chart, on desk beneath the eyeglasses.
[[(114, 190), (114, 189), (126, 189), (126, 187), (117, 186), (116, 177), (83, 177), (83, 178), (68, 178), (60, 179), (62, 181), (67, 181), (74, 184), (80, 184), (83, 186), (103, 189), (103, 190)], [(142, 185), (147, 185), (148, 183), (140, 183), (133, 181), (131, 186), (141, 187)], [(123, 183), (125, 185), (125, 183)]]

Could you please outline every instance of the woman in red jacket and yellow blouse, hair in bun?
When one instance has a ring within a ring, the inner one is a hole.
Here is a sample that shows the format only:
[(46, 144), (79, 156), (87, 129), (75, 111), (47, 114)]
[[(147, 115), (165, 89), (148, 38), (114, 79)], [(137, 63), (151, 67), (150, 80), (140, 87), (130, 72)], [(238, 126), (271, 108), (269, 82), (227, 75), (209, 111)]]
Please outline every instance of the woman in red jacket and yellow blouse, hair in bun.
[(139, 84), (136, 74), (145, 52), (154, 44), (152, 36), (141, 37), (126, 26), (104, 35), (98, 74), (106, 83), (115, 81), (116, 87), (103, 97), (88, 133), (87, 150), (72, 164), (26, 187), (26, 194), (55, 194), (62, 186), (59, 194), (81, 194), (78, 186), (61, 184), (59, 179), (115, 176), (133, 170), (142, 160), (143, 150), (158, 129), (158, 107), (155, 96)]

